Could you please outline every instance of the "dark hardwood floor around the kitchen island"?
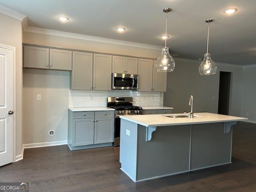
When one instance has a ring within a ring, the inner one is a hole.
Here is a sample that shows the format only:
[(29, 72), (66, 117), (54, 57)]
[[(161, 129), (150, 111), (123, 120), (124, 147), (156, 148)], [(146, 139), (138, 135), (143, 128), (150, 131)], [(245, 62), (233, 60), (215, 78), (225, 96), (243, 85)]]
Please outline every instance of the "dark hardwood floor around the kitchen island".
[(30, 192), (256, 191), (256, 124), (233, 130), (232, 164), (134, 183), (119, 168), (119, 148), (70, 151), (26, 149), (24, 159), (0, 167), (0, 182), (30, 182)]

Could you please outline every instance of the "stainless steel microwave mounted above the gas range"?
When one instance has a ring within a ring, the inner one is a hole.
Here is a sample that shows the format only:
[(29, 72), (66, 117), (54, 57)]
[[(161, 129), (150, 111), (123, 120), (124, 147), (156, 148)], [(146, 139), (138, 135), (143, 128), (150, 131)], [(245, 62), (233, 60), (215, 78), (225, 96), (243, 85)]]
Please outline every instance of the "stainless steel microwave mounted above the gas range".
[(138, 75), (112, 73), (112, 89), (138, 90)]

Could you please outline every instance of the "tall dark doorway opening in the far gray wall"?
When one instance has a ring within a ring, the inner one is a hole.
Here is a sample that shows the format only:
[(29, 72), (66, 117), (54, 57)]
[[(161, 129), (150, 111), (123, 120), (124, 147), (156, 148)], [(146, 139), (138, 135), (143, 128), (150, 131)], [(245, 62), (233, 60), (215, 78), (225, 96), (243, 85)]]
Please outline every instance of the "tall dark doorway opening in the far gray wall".
[(231, 72), (220, 71), (218, 114), (228, 115)]

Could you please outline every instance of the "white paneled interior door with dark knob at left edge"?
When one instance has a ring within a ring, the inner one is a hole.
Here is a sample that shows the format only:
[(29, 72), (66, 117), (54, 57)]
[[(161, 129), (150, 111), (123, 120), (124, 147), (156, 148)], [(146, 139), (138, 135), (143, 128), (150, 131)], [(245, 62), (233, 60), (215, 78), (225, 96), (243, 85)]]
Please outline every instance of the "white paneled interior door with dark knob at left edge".
[(0, 166), (13, 161), (13, 50), (0, 45)]

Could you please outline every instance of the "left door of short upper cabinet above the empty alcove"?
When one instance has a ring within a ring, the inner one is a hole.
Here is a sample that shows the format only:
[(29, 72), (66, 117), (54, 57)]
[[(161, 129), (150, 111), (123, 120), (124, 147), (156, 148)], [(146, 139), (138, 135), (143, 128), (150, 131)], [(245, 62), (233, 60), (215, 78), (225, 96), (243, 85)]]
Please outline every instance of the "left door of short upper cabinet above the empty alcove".
[(24, 46), (24, 67), (28, 68), (49, 68), (49, 49)]

